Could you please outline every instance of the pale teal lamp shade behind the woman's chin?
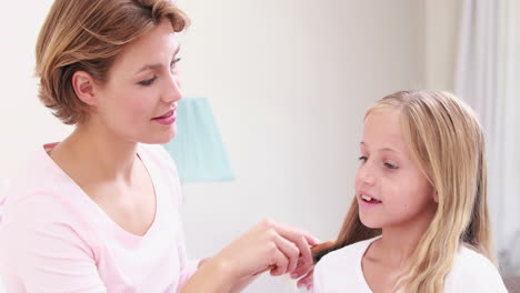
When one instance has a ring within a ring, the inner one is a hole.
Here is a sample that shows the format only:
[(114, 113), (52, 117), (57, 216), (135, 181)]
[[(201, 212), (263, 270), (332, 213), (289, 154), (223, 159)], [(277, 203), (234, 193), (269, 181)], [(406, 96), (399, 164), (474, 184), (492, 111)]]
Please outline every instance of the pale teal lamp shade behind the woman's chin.
[(234, 179), (208, 99), (180, 100), (177, 130), (163, 146), (176, 161), (182, 183)]

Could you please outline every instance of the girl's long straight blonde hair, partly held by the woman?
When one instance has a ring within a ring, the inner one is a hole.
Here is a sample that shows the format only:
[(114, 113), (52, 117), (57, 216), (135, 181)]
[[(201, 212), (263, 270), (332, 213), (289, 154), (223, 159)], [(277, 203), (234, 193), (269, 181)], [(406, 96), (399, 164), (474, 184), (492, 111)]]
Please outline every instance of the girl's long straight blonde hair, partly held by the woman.
[[(473, 111), (443, 91), (401, 91), (379, 100), (366, 113), (396, 109), (408, 148), (438, 194), (439, 203), (397, 289), (403, 292), (443, 292), (458, 249), (467, 245), (496, 257), (491, 242), (484, 135)], [(364, 226), (354, 198), (336, 245), (316, 255), (380, 235)]]

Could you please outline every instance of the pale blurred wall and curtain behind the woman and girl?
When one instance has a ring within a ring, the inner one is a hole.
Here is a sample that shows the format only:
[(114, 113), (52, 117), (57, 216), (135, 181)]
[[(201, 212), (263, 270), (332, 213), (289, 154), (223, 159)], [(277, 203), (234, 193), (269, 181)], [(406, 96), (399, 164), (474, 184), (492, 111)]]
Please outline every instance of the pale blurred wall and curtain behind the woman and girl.
[[(394, 91), (428, 88), (454, 91), (487, 129), (497, 251), (507, 281), (520, 275), (516, 0), (177, 2), (192, 20), (180, 36), (184, 95), (210, 101), (236, 176), (183, 184), (192, 257), (214, 254), (266, 216), (334, 238), (353, 194), (364, 110)], [(3, 180), (72, 130), (37, 98), (33, 51), (51, 3), (2, 4)], [(263, 275), (246, 292), (293, 290)]]

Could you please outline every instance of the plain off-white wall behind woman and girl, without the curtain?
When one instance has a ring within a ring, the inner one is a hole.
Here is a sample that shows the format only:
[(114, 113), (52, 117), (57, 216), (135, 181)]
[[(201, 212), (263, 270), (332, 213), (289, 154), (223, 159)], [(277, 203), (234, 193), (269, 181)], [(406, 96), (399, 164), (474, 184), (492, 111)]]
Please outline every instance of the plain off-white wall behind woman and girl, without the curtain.
[[(336, 236), (353, 194), (364, 109), (424, 84), (421, 2), (178, 2), (193, 21), (182, 36), (184, 93), (210, 99), (238, 176), (184, 185), (191, 254), (216, 253), (268, 215)], [(31, 0), (31, 10), (0, 19), (0, 176), (70, 131), (40, 104), (31, 78), (50, 3)], [(282, 281), (262, 276), (246, 292), (283, 292)]]

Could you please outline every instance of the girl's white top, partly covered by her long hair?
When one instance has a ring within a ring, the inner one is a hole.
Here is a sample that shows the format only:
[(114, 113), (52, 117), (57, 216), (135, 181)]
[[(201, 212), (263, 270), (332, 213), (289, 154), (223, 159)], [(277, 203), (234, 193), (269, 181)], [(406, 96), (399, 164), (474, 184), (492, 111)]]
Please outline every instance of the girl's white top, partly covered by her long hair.
[[(373, 238), (333, 251), (314, 269), (314, 293), (372, 293), (361, 267), (361, 260)], [(444, 293), (507, 293), (497, 267), (482, 254), (463, 245), (444, 282)]]

